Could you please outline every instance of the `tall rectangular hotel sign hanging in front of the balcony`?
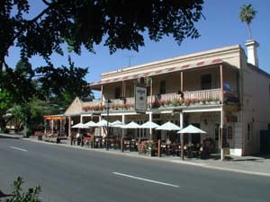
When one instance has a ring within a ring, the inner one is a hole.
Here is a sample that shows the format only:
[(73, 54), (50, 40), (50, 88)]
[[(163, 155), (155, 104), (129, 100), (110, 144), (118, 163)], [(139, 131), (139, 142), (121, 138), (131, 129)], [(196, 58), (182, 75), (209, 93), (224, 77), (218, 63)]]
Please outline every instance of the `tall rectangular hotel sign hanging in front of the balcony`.
[(135, 110), (145, 113), (147, 110), (147, 87), (135, 85)]

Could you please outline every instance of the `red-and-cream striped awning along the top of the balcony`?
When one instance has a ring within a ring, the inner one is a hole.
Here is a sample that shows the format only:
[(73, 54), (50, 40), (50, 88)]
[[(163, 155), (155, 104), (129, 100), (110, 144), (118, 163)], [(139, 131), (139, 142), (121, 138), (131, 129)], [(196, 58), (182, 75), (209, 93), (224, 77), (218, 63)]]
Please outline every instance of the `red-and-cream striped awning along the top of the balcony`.
[(104, 84), (104, 83), (115, 83), (115, 82), (138, 79), (141, 77), (145, 78), (145, 77), (152, 76), (152, 75), (164, 75), (167, 73), (177, 72), (177, 71), (181, 71), (181, 70), (185, 70), (185, 69), (192, 69), (192, 68), (197, 68), (197, 67), (202, 67), (202, 66), (218, 65), (221, 63), (224, 63), (224, 61), (220, 58), (217, 58), (217, 59), (213, 59), (213, 60), (201, 61), (201, 62), (198, 62), (195, 64), (190, 64), (190, 65), (163, 68), (163, 69), (160, 69), (157, 71), (149, 71), (149, 72), (144, 72), (144, 73), (136, 74), (136, 75), (120, 76), (120, 77), (113, 78), (113, 79), (106, 79), (106, 80), (99, 81), (99, 82), (89, 83), (89, 85), (91, 87), (96, 87), (96, 86)]

